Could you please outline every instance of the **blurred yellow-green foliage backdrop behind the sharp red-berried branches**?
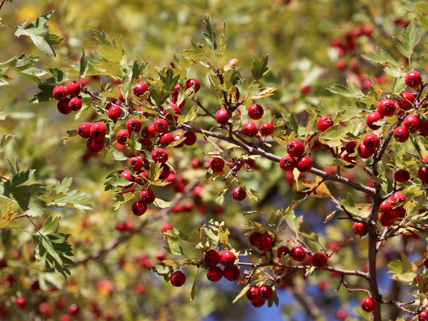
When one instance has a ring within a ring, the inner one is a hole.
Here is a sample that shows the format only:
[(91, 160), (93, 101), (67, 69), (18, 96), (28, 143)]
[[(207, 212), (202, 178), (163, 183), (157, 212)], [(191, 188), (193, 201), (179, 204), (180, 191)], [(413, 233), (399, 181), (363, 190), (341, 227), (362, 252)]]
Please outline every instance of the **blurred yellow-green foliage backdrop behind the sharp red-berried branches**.
[[(168, 65), (174, 53), (190, 48), (190, 39), (202, 42), (202, 20), (208, 14), (217, 34), (223, 29), (223, 24), (226, 24), (228, 45), (223, 62), (232, 57), (238, 58), (239, 65), (249, 74), (253, 54), (259, 57), (266, 53), (270, 55), (271, 70), (263, 82), (266, 86), (279, 88), (274, 96), (264, 101), (268, 102), (272, 113), (280, 112), (285, 107), (294, 110), (300, 119), (304, 119), (307, 117), (304, 108), (308, 105), (315, 106), (322, 96), (326, 99), (327, 113), (333, 116), (345, 101), (333, 96), (325, 88), (333, 83), (344, 83), (347, 78), (364, 88), (364, 74), (377, 77), (383, 75), (382, 68), (363, 61), (360, 54), (375, 51), (376, 45), (384, 49), (392, 47), (392, 35), (398, 36), (406, 21), (412, 19), (412, 15), (404, 10), (405, 7), (405, 3), (398, 0), (189, 0), (185, 3), (173, 0), (15, 0), (5, 3), (0, 11), (4, 25), (0, 29), (0, 61), (5, 62), (21, 53), (33, 53), (42, 56), (36, 65), (39, 68), (66, 67), (79, 59), (82, 47), (91, 53), (95, 43), (92, 29), (98, 29), (105, 30), (110, 37), (122, 35), (129, 62), (140, 56), (144, 61), (150, 62), (150, 73), (156, 75), (156, 66)], [(42, 55), (29, 38), (15, 37), (14, 30), (6, 26), (17, 26), (28, 16), (32, 16), (32, 21), (52, 10), (55, 12), (48, 23), (50, 32), (64, 38), (55, 47), (56, 57)], [(369, 36), (353, 38), (345, 52), (331, 46), (333, 38), (346, 42), (349, 35), (362, 26), (372, 28), (373, 32)], [(389, 53), (397, 61), (404, 62), (397, 51)], [(345, 63), (344, 68), (341, 68), (341, 62)], [(16, 158), (21, 168), (37, 169), (35, 179), (39, 182), (49, 184), (65, 177), (74, 178), (74, 187), (87, 192), (96, 208), (86, 214), (74, 210), (60, 213), (61, 232), (71, 233), (69, 241), (74, 247), (77, 260), (82, 260), (120, 234), (116, 230), (118, 221), (139, 220), (127, 206), (113, 211), (114, 201), (110, 199), (110, 193), (103, 191), (104, 176), (110, 170), (123, 169), (123, 164), (88, 157), (85, 143), (77, 139), (61, 146), (60, 137), (66, 136), (66, 130), (77, 128), (80, 120), (72, 120), (59, 114), (54, 101), (40, 105), (29, 104), (31, 96), (37, 92), (36, 86), (18, 74), (10, 75), (15, 79), (9, 86), (0, 87), (0, 109), (11, 117), (0, 121), (0, 130), (18, 136), (1, 155), (0, 175), (8, 175), (6, 159)], [(199, 79), (202, 84), (199, 94), (201, 101), (214, 106), (212, 110), (215, 110), (215, 99), (209, 96), (206, 75), (192, 67), (189, 76)], [(389, 80), (388, 76), (383, 82), (388, 84)], [(106, 83), (111, 80), (105, 77), (88, 77), (87, 86), (97, 90), (100, 81)], [(194, 157), (205, 161), (207, 158), (204, 158), (202, 151), (208, 152), (210, 148), (211, 146), (199, 145), (191, 149), (190, 154), (177, 152), (175, 157), (181, 158), (184, 163)], [(314, 154), (318, 168), (323, 168), (330, 159), (323, 151), (315, 151)], [(261, 170), (243, 174), (242, 180), (259, 191), (262, 202), (256, 205), (247, 200), (243, 205), (245, 208), (269, 212), (286, 206), (296, 197), (292, 178), (285, 177), (278, 166), (273, 166), (267, 160), (261, 160), (257, 165)], [(266, 173), (269, 175), (266, 176)], [(363, 171), (345, 172), (344, 175), (366, 182)], [(239, 210), (236, 202), (226, 199), (222, 211), (213, 203), (213, 199), (223, 188), (221, 186), (219, 183), (209, 187), (204, 192), (205, 195), (202, 194), (208, 204), (205, 215), (199, 214), (194, 207), (188, 213), (173, 214), (170, 222), (191, 233), (204, 221), (215, 217), (220, 221), (225, 220), (226, 226), (234, 227), (235, 233), (239, 235), (240, 225), (246, 219), (241, 214), (236, 214)], [(346, 195), (343, 189), (335, 190), (334, 185), (330, 190), (342, 197)], [(172, 198), (172, 193), (167, 192), (163, 199)], [(355, 199), (357, 202), (366, 202), (362, 195), (355, 195)], [(192, 199), (188, 201), (192, 202)], [(303, 214), (305, 229), (320, 232), (320, 238), (326, 244), (340, 242), (351, 233), (350, 222), (322, 224), (325, 214), (332, 209), (333, 205), (328, 201), (308, 199), (308, 202), (300, 206), (300, 213), (297, 213)], [(27, 222), (20, 222), (17, 226), (26, 228), (26, 224)], [(52, 317), (42, 317), (49, 320), (58, 320), (59, 315), (72, 303), (77, 303), (83, 311), (80, 316), (73, 317), (76, 320), (93, 319), (94, 311), (95, 315), (99, 312), (101, 319), (127, 321), (297, 320), (308, 315), (311, 318), (308, 310), (314, 309), (313, 301), (322, 310), (322, 313), (318, 313), (319, 320), (335, 320), (339, 309), (347, 310), (348, 314), (353, 315), (352, 318), (360, 318), (353, 312), (355, 302), (359, 301), (357, 295), (354, 293), (354, 298), (351, 298), (351, 294), (342, 288), (337, 297), (333, 290), (339, 284), (339, 279), (326, 278), (326, 274), (322, 273), (315, 273), (310, 279), (302, 276), (296, 278), (294, 284), (280, 294), (278, 308), (273, 306), (268, 309), (264, 306), (256, 311), (246, 300), (232, 304), (233, 298), (240, 291), (239, 286), (228, 284), (228, 281), (208, 284), (205, 278), (200, 278), (196, 302), (194, 306), (190, 306), (192, 275), (196, 273), (196, 269), (188, 269), (188, 281), (182, 288), (173, 288), (147, 270), (150, 263), (156, 261), (156, 253), (163, 250), (163, 235), (159, 232), (162, 224), (163, 222), (152, 223), (144, 233), (134, 236), (102, 260), (72, 268), (72, 277), (65, 284), (50, 273), (45, 273), (37, 262), (31, 261), (31, 242), (28, 242), (30, 239), (26, 233), (5, 230), (1, 234), (3, 243), (0, 244), (0, 256), (8, 259), (9, 267), (0, 270), (1, 279), (5, 280), (0, 285), (0, 318), (39, 320), (37, 306), (46, 302), (55, 309)], [(396, 241), (401, 242), (400, 239)], [(236, 241), (236, 247), (246, 246)], [(360, 258), (366, 257), (365, 246), (364, 241), (357, 242), (341, 250), (340, 255), (334, 256), (332, 261), (340, 262), (348, 269), (361, 269), (365, 261)], [(394, 244), (389, 246), (393, 247)], [(410, 246), (407, 250), (411, 252), (416, 245)], [(21, 260), (15, 259), (14, 250), (21, 253)], [(145, 256), (152, 261), (146, 262)], [(380, 260), (383, 257), (384, 260), (390, 259), (384, 254), (380, 256)], [(10, 275), (15, 278), (14, 282), (8, 279)], [(138, 290), (137, 285), (140, 285)], [(141, 285), (145, 288), (144, 291)], [(383, 291), (389, 291), (391, 286), (386, 277), (381, 279)], [(58, 290), (49, 291), (52, 287)], [(16, 309), (14, 297), (18, 295), (25, 295), (30, 307)], [(60, 297), (66, 300), (65, 308), (58, 304)]]

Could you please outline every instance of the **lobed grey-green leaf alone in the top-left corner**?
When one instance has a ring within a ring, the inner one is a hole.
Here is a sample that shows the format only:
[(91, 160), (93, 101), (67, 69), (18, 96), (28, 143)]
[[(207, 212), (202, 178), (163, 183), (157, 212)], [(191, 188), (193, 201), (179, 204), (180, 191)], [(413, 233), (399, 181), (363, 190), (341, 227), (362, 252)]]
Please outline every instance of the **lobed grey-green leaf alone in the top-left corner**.
[(49, 26), (47, 22), (51, 18), (52, 13), (53, 11), (42, 15), (31, 24), (28, 24), (27, 27), (25, 27), (25, 24), (27, 24), (28, 20), (30, 19), (30, 17), (28, 17), (22, 24), (15, 27), (17, 29), (15, 36), (18, 38), (22, 35), (29, 36), (34, 42), (34, 45), (36, 45), (36, 47), (42, 53), (45, 55), (56, 56), (55, 51), (53, 51), (51, 45), (58, 44), (62, 39), (59, 39), (59, 37), (56, 35), (49, 34)]

